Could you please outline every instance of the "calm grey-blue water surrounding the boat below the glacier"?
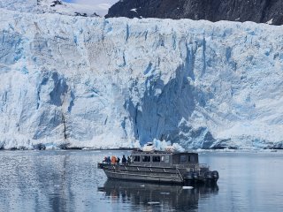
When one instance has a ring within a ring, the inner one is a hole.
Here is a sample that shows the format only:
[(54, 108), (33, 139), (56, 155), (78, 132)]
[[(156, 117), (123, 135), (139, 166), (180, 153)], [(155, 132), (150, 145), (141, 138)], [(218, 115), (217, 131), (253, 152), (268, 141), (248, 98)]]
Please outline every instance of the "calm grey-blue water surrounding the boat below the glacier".
[(107, 180), (96, 163), (121, 151), (0, 151), (0, 211), (282, 211), (283, 152), (200, 154), (218, 186)]

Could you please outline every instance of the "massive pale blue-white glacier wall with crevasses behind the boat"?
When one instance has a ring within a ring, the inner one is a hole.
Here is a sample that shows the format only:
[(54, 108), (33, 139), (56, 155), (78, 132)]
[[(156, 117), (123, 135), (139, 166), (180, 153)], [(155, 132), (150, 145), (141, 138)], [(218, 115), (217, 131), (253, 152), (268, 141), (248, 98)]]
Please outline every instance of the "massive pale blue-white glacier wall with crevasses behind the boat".
[(283, 27), (0, 11), (0, 148), (283, 148)]

